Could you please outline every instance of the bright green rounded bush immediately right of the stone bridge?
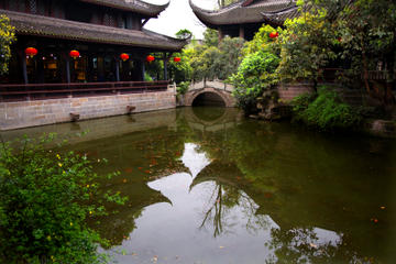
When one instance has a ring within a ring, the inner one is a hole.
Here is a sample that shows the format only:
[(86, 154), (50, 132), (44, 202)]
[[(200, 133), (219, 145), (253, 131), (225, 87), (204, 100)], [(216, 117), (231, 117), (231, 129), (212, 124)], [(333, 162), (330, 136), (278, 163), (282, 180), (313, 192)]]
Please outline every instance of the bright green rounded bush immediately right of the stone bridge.
[(256, 52), (248, 55), (238, 68), (238, 73), (232, 75), (230, 82), (234, 85), (233, 96), (237, 103), (245, 112), (255, 108), (256, 98), (264, 90), (277, 84), (275, 69), (279, 64), (279, 58), (267, 52)]

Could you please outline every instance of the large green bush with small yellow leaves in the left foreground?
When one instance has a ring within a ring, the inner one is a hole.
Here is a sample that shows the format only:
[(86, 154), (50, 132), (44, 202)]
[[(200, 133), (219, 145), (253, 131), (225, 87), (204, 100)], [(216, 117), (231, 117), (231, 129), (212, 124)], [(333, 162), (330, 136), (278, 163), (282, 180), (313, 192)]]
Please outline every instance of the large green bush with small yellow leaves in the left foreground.
[(125, 199), (100, 193), (86, 156), (45, 148), (52, 138), (0, 146), (0, 262), (107, 263), (97, 253), (106, 241), (86, 219), (106, 215), (105, 201)]

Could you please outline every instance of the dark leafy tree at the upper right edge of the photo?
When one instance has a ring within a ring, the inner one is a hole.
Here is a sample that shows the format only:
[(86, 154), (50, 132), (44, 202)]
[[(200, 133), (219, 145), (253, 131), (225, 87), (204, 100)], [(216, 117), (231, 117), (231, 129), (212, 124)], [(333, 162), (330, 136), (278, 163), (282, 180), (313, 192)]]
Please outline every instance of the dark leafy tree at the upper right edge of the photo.
[[(341, 12), (342, 56), (351, 61), (350, 74), (361, 79), (367, 94), (387, 108), (395, 105), (396, 3), (387, 0), (356, 0)], [(370, 70), (383, 70), (385, 80), (371, 80)], [(361, 81), (359, 81), (361, 82)]]

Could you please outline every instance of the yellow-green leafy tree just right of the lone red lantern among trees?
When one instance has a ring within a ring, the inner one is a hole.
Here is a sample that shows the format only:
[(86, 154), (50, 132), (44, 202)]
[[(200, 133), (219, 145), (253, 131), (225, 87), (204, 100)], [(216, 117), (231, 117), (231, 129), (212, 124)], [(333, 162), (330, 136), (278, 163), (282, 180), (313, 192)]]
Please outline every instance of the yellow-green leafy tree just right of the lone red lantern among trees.
[(311, 9), (299, 18), (286, 20), (282, 38), (282, 80), (317, 81), (319, 69), (337, 58), (337, 31), (326, 9)]

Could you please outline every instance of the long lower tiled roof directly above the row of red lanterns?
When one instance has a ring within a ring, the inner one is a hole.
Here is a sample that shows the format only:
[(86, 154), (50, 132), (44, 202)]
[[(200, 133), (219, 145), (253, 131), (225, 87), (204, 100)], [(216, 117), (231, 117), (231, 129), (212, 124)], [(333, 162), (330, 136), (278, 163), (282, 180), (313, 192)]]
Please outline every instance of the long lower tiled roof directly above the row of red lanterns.
[(173, 38), (146, 30), (125, 30), (6, 10), (0, 10), (0, 13), (10, 18), (11, 24), (15, 26), (16, 33), (20, 35), (37, 35), (166, 51), (179, 51), (187, 44), (186, 40)]

